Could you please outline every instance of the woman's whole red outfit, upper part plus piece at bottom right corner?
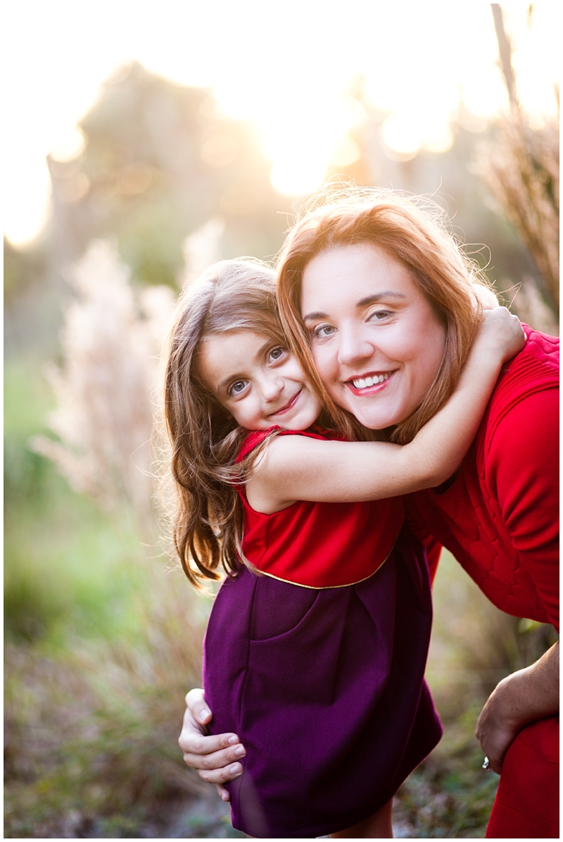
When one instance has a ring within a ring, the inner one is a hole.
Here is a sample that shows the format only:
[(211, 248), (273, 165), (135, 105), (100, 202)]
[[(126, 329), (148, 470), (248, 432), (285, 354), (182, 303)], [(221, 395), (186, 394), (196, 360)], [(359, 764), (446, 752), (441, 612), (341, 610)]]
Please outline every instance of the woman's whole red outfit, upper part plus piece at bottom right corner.
[[(523, 328), (459, 472), (405, 498), (406, 512), (434, 568), (440, 541), (497, 608), (559, 631), (559, 339)], [(547, 717), (508, 749), (486, 838), (557, 838), (558, 794), (559, 717)]]

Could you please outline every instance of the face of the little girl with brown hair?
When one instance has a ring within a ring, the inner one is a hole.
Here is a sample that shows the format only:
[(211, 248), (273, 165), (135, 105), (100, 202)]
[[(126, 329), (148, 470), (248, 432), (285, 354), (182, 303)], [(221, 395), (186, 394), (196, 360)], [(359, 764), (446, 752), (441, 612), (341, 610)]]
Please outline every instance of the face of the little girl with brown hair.
[(295, 357), (263, 333), (235, 330), (205, 337), (199, 375), (245, 429), (307, 429), (321, 413)]

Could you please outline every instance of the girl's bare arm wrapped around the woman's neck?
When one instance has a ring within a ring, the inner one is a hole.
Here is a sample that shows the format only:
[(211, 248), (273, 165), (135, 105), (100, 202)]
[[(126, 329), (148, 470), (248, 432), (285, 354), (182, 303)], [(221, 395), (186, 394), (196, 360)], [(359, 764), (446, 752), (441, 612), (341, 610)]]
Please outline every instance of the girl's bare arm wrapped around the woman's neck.
[(249, 504), (273, 514), (296, 500), (353, 503), (440, 485), (475, 438), (502, 365), (524, 344), (517, 317), (487, 312), (454, 394), (410, 444), (279, 436), (247, 482)]

